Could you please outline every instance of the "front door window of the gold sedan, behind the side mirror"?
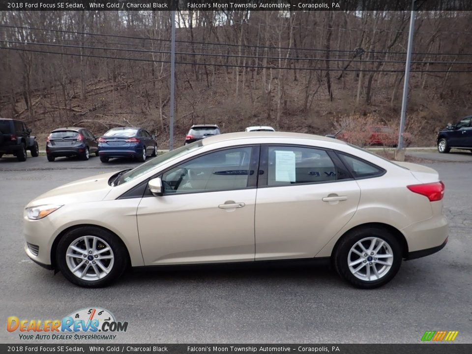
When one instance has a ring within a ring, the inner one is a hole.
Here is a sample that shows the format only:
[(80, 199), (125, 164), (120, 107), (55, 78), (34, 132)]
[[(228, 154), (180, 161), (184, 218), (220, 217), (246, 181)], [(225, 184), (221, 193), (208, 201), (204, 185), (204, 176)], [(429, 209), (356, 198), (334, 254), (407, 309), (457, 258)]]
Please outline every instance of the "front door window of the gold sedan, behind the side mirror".
[(250, 171), (251, 147), (208, 153), (162, 175), (164, 194), (245, 189)]

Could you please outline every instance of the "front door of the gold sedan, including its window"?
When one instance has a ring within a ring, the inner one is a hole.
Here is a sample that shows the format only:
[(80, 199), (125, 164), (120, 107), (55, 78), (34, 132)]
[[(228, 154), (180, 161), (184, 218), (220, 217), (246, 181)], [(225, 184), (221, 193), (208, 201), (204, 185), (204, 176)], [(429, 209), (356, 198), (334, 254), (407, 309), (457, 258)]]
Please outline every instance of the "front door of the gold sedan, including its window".
[(200, 155), (161, 175), (163, 196), (137, 211), (150, 265), (254, 261), (258, 147)]

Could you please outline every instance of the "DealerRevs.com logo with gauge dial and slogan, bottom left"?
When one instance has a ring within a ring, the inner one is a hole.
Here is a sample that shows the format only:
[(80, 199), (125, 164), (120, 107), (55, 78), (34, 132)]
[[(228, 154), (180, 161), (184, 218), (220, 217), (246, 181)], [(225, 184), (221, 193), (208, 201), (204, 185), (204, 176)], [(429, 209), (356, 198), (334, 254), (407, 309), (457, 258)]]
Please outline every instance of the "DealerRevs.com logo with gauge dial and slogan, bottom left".
[(29, 320), (10, 316), (6, 330), (19, 332), (22, 340), (110, 340), (126, 332), (127, 322), (118, 322), (105, 309), (92, 307), (75, 311), (62, 320)]

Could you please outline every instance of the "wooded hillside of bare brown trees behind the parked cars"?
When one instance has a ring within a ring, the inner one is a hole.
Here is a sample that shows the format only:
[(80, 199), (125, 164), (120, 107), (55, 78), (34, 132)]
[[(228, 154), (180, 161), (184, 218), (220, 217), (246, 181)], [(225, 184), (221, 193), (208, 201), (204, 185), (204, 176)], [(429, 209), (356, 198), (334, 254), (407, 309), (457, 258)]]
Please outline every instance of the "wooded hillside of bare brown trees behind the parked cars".
[[(176, 144), (193, 123), (329, 133), (398, 125), (409, 11), (178, 11)], [(0, 13), (0, 115), (36, 133), (120, 125), (168, 144), (170, 12)], [(419, 11), (407, 129), (433, 145), (472, 114), (472, 13)]]

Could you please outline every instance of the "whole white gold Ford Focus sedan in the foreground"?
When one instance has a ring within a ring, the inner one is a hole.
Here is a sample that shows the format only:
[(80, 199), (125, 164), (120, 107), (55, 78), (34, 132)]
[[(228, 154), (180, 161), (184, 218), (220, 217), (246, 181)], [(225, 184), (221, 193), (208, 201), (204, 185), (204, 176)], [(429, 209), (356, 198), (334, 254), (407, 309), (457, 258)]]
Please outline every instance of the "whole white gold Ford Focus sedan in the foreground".
[(443, 194), (435, 170), (331, 138), (223, 134), (37, 197), (25, 251), (83, 287), (128, 266), (320, 259), (370, 289), (445, 246)]

